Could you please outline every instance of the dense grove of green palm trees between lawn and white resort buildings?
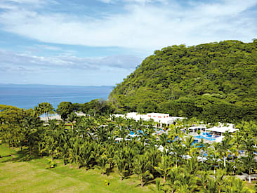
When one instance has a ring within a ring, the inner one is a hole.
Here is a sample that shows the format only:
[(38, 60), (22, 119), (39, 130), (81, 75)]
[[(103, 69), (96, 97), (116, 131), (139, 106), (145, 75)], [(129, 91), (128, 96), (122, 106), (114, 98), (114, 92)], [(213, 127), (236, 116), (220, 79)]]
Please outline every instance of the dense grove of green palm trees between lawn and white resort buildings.
[[(257, 126), (253, 121), (242, 121), (239, 131), (226, 133), (222, 142), (210, 145), (202, 140), (192, 145), (194, 138), (180, 129), (199, 123), (196, 119), (171, 125), (167, 134), (152, 135), (152, 121), (110, 119), (96, 112), (86, 117), (70, 113), (65, 121), (47, 124), (40, 121), (40, 114), (51, 111), (50, 104), (39, 104), (34, 110), (0, 105), (1, 142), (28, 148), (30, 155), (50, 157), (48, 168), (56, 167), (55, 159), (62, 159), (85, 173), (95, 168), (102, 175), (118, 173), (120, 180), (136, 175), (140, 186), (155, 183), (154, 192), (250, 192), (234, 175), (249, 173), (250, 180), (255, 173)], [(126, 140), (130, 131), (139, 137)], [(201, 161), (202, 157), (207, 160)]]

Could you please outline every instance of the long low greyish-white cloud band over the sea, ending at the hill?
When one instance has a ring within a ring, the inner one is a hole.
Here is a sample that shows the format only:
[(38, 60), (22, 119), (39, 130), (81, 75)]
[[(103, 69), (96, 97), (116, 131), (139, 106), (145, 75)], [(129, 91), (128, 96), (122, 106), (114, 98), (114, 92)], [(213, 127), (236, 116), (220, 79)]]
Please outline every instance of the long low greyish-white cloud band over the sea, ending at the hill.
[[(74, 55), (59, 55), (55, 57), (43, 57), (27, 53), (14, 53), (11, 51), (0, 50), (0, 64), (2, 69), (32, 69), (38, 67), (48, 67), (49, 69), (135, 69), (140, 64), (142, 58), (134, 55), (113, 55), (98, 58), (78, 58)], [(9, 70), (9, 71), (10, 71)]]

